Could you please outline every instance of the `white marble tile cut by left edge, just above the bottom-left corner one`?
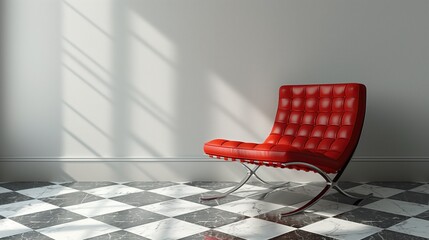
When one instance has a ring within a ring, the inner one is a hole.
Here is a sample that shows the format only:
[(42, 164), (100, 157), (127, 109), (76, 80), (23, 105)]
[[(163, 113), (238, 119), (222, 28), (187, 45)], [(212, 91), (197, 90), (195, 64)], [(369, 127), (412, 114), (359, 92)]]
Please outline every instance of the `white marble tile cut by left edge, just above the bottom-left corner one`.
[(0, 215), (3, 217), (17, 217), (26, 214), (43, 212), (51, 209), (58, 208), (49, 203), (45, 203), (39, 200), (29, 200), (23, 202), (10, 203), (0, 206)]

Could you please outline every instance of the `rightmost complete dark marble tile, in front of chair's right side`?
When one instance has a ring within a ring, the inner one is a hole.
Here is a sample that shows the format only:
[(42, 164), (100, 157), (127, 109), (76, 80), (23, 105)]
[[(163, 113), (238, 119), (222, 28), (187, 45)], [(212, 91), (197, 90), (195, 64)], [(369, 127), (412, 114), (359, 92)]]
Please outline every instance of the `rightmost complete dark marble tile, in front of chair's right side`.
[(388, 228), (397, 223), (407, 220), (409, 217), (387, 212), (380, 212), (368, 208), (357, 208), (337, 215), (335, 216), (335, 218), (362, 223), (379, 228)]

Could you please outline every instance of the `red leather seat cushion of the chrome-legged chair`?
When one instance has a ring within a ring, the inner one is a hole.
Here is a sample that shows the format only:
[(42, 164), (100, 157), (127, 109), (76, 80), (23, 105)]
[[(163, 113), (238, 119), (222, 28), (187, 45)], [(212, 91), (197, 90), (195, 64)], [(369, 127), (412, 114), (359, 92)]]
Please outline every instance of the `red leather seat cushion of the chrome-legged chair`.
[[(204, 144), (204, 152), (209, 156), (223, 157), (226, 160), (253, 160), (255, 164), (271, 164), (273, 162), (305, 162), (316, 165), (327, 173), (335, 173), (341, 168), (341, 162), (316, 151), (300, 150), (290, 145), (257, 144), (225, 139), (214, 139)], [(276, 166), (276, 165), (274, 165)], [(298, 170), (311, 170), (302, 166), (291, 166)]]

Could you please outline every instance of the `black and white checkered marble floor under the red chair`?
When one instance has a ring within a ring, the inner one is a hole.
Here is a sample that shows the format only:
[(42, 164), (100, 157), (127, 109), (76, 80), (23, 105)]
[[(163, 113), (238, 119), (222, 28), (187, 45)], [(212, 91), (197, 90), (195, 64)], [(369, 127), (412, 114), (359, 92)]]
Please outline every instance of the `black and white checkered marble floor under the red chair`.
[[(231, 182), (0, 183), (0, 239), (428, 239), (429, 184), (345, 182), (360, 206), (330, 192), (290, 217), (317, 184), (291, 184), (268, 195), (250, 183), (233, 195)], [(287, 202), (288, 206), (283, 205)]]

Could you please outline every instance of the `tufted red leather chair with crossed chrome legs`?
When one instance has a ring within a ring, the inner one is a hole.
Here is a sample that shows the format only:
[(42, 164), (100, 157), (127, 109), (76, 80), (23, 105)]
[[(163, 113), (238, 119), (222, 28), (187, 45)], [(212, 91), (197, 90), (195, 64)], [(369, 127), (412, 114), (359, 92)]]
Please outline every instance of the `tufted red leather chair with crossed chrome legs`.
[[(334, 188), (359, 141), (365, 117), (366, 87), (359, 83), (285, 85), (280, 87), (277, 114), (271, 133), (263, 143), (214, 139), (204, 144), (210, 157), (239, 161), (247, 176), (233, 189), (203, 200), (224, 197), (240, 188), (260, 166), (290, 168), (320, 174), (325, 188), (307, 204), (283, 215), (301, 212)], [(256, 165), (251, 169), (245, 164)], [(328, 174), (336, 174), (333, 179)]]

